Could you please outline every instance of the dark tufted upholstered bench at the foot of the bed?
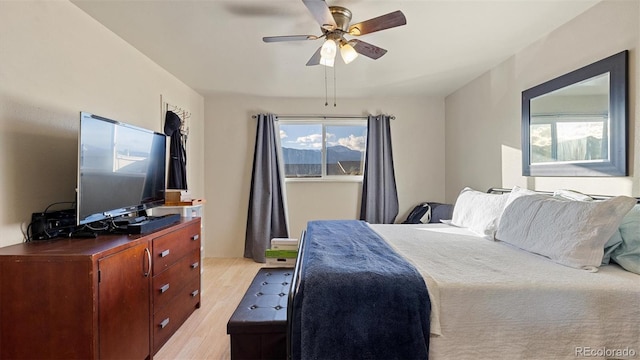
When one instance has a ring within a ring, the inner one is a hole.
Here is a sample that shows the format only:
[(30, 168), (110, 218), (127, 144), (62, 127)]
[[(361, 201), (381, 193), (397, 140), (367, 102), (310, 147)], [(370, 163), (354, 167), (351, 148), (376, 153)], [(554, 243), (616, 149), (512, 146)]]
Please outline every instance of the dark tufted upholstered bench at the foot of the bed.
[(287, 302), (293, 269), (258, 271), (227, 323), (231, 359), (286, 359)]

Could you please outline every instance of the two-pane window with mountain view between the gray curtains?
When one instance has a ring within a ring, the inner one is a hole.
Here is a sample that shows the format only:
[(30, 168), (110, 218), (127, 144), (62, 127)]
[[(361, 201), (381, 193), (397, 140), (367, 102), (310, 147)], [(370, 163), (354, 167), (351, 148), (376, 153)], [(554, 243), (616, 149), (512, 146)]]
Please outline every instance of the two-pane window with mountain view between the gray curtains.
[(278, 120), (278, 128), (285, 178), (362, 178), (365, 120)]

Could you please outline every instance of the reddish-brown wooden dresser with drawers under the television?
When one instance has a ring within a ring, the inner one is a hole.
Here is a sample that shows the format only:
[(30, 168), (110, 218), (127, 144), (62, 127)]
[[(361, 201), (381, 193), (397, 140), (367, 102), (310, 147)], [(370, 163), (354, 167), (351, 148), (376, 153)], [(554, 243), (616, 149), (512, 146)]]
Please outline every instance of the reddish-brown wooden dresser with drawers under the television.
[(199, 307), (199, 262), (200, 218), (0, 248), (0, 358), (151, 359)]

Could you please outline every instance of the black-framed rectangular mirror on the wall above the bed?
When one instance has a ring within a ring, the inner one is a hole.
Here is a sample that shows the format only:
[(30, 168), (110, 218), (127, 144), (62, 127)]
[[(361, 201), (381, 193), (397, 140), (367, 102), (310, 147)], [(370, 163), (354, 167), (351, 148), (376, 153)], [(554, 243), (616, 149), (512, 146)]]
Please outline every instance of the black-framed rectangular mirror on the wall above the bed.
[(627, 176), (628, 51), (522, 92), (523, 176)]

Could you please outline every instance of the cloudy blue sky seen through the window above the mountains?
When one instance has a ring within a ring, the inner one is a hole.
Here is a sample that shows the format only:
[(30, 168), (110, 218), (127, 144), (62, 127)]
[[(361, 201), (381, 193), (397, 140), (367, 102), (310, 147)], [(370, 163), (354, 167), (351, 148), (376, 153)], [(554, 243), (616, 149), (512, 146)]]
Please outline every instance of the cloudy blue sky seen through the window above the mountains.
[[(326, 125), (326, 131), (327, 146), (342, 145), (358, 151), (365, 149), (366, 125)], [(322, 125), (280, 124), (280, 142), (286, 148), (319, 150), (322, 148)]]

